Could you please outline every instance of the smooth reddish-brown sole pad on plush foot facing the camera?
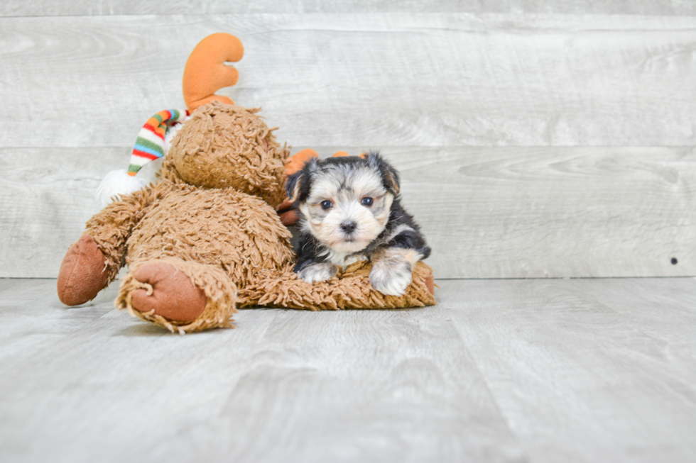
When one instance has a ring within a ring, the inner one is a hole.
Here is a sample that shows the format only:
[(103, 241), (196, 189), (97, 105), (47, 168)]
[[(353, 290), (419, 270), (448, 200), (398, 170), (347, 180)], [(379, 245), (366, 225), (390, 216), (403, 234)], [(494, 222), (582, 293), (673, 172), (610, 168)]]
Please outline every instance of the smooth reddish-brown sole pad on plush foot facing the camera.
[(179, 323), (190, 323), (205, 309), (207, 299), (203, 290), (170, 264), (145, 264), (133, 277), (152, 288), (133, 291), (131, 304), (138, 311)]

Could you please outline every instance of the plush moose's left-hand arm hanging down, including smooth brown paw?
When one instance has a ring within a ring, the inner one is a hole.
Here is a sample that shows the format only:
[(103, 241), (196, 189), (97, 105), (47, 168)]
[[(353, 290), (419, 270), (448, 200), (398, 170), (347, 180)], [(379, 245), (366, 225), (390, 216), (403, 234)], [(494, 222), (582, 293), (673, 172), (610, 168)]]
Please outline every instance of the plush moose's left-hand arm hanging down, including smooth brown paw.
[[(168, 183), (168, 182), (167, 182)], [(68, 306), (91, 301), (125, 263), (126, 240), (148, 206), (170, 191), (162, 184), (124, 195), (87, 221), (87, 230), (67, 250), (58, 273), (58, 298)]]

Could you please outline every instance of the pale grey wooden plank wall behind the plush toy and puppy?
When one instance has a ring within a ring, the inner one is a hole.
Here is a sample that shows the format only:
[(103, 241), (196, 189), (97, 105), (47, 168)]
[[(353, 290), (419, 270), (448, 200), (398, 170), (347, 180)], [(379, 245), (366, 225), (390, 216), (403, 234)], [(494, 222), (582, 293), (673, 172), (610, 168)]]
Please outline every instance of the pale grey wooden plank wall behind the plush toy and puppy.
[(281, 142), (396, 164), (437, 277), (696, 275), (696, 2), (555, 3), (5, 0), (0, 277), (55, 277), (217, 31)]

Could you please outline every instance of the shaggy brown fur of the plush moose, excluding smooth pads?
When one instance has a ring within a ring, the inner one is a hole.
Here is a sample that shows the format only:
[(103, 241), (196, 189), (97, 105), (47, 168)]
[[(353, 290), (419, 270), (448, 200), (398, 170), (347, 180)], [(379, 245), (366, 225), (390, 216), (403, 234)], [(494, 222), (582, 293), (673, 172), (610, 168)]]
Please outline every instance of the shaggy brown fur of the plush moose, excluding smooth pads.
[[(236, 306), (401, 308), (435, 303), (432, 269), (416, 265), (404, 296), (372, 289), (370, 264), (357, 262), (322, 283), (298, 280), (290, 232), (275, 208), (284, 199), (283, 162), (258, 110), (217, 102), (200, 108), (173, 140), (164, 180), (124, 196), (87, 222), (104, 253), (108, 280), (129, 265), (116, 306), (178, 333), (229, 327)], [(134, 278), (148, 262), (163, 262), (204, 291), (205, 309), (174, 322), (138, 311), (131, 296), (153, 287)]]

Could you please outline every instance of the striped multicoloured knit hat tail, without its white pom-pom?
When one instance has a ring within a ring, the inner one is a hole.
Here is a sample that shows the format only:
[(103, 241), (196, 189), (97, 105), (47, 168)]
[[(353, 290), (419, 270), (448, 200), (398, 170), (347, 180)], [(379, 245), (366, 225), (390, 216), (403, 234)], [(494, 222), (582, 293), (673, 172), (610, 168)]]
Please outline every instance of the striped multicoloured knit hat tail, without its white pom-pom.
[(164, 156), (164, 135), (167, 133), (168, 125), (183, 122), (189, 114), (187, 110), (165, 109), (148, 119), (138, 133), (136, 145), (133, 147), (131, 164), (128, 167), (131, 177), (148, 162)]

